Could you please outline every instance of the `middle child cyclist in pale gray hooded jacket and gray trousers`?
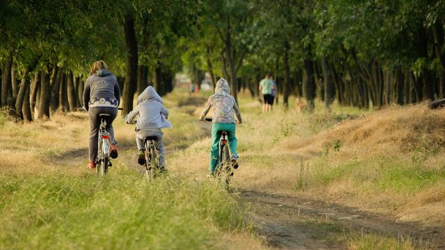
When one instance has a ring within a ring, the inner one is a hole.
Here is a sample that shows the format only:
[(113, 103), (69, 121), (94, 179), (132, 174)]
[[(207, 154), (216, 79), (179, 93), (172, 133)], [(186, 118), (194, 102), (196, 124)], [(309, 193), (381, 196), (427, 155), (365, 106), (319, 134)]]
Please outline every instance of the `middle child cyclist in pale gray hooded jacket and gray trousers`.
[[(138, 97), (138, 105), (125, 117), (127, 124), (136, 123), (136, 144), (138, 144), (138, 163), (145, 163), (144, 138), (156, 136), (156, 150), (159, 153), (159, 164), (165, 168), (165, 153), (161, 128), (172, 128), (168, 122), (168, 110), (152, 86), (148, 86)], [(137, 122), (136, 122), (137, 121)]]

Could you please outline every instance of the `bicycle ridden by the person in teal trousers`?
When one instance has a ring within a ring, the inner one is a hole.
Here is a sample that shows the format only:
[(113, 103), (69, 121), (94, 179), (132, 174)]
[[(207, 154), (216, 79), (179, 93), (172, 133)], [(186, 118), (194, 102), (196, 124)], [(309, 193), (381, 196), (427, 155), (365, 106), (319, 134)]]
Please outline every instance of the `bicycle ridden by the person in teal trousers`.
[[(211, 118), (204, 118), (204, 121), (211, 122)], [(227, 144), (227, 131), (221, 131), (220, 142), (218, 146), (219, 163), (215, 169), (215, 177), (220, 181), (223, 189), (229, 189), (229, 183), (234, 176), (234, 166), (230, 160), (229, 145)]]

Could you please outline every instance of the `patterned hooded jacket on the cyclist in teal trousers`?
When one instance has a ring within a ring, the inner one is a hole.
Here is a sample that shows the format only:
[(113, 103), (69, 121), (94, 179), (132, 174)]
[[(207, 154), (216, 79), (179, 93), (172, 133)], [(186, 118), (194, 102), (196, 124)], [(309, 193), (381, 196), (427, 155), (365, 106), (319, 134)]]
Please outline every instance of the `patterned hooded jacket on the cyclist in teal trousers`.
[(229, 83), (225, 78), (220, 78), (216, 83), (215, 94), (209, 97), (207, 104), (202, 110), (200, 119), (209, 113), (210, 108), (213, 106), (212, 123), (235, 123), (235, 114), (238, 118), (238, 123), (242, 123), (241, 113), (239, 112), (238, 105), (234, 97), (230, 95)]

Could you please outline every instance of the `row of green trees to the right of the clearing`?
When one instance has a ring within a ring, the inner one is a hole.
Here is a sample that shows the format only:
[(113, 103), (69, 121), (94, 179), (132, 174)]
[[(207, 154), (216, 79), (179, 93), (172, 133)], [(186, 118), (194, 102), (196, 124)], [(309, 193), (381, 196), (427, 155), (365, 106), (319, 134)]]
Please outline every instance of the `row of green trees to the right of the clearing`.
[(229, 78), (234, 96), (240, 88), (257, 95), (272, 72), (286, 106), (291, 94), (310, 107), (318, 96), (327, 107), (337, 99), (360, 108), (445, 97), (443, 1), (213, 1), (200, 9), (211, 14), (184, 38), (194, 44), (187, 59)]

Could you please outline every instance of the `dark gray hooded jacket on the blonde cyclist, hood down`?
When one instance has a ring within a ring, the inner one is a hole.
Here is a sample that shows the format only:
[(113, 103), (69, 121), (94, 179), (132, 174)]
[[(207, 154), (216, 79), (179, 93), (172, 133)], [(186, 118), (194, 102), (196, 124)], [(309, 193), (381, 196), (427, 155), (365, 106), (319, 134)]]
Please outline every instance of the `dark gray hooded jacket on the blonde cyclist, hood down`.
[(106, 69), (99, 69), (86, 79), (83, 89), (83, 108), (90, 106), (111, 106), (117, 108), (120, 102), (118, 80)]

